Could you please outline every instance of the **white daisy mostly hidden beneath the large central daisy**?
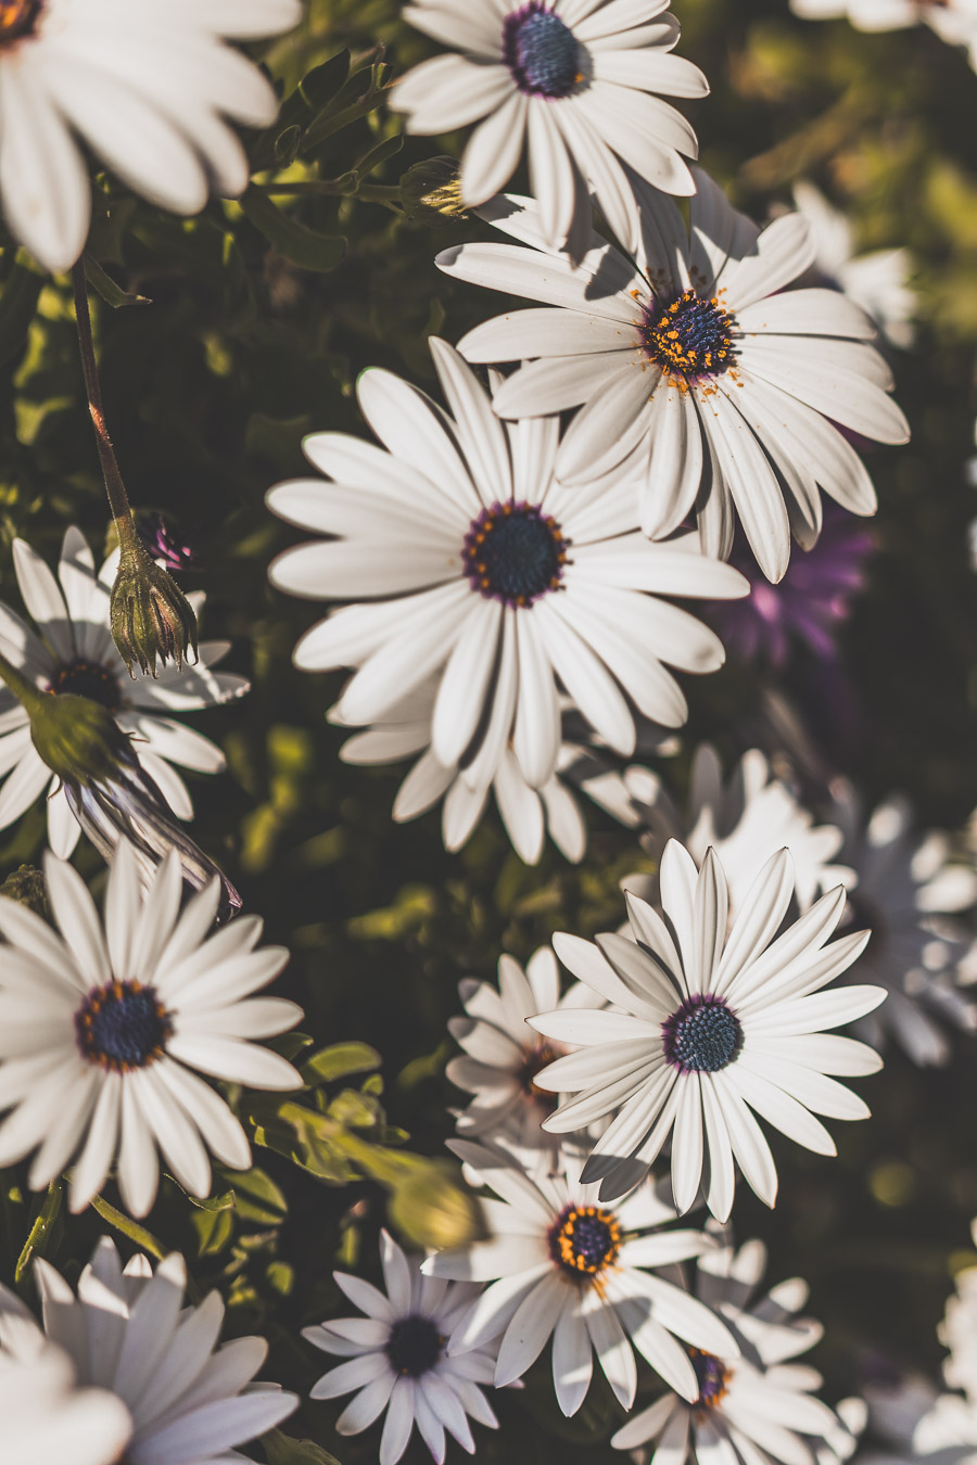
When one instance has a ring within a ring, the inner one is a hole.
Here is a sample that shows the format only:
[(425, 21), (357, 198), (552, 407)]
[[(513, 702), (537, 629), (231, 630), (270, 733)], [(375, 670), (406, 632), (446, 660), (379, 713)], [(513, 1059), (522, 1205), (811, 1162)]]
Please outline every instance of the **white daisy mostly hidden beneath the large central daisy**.
[[(526, 782), (511, 744), (502, 750), (494, 771), (480, 769), (482, 781), (476, 784), (466, 779), (457, 763), (445, 768), (431, 747), (437, 693), (437, 681), (419, 687), (372, 727), (354, 732), (340, 749), (343, 762), (357, 766), (394, 763), (420, 754), (397, 791), (393, 810), (397, 823), (419, 819), (442, 798), (444, 847), (460, 850), (475, 834), (492, 794), (513, 848), (526, 864), (539, 863), (546, 834), (564, 858), (573, 864), (583, 858), (587, 822), (577, 790), (620, 822), (631, 828), (637, 825), (621, 774), (609, 766), (599, 749), (570, 743), (565, 735), (557, 754), (557, 769), (540, 788)], [(560, 700), (561, 706), (568, 706), (567, 697)], [(346, 725), (338, 708), (333, 708), (328, 716), (338, 727)]]

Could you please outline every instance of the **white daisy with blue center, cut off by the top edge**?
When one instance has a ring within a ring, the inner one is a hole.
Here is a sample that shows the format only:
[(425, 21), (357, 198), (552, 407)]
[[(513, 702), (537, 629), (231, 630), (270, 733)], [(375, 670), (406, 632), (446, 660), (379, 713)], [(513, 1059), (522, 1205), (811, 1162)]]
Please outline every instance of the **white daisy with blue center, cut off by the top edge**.
[(435, 56), (397, 82), (407, 130), (478, 123), (461, 157), (461, 198), (485, 204), (529, 154), (542, 227), (554, 248), (590, 233), (590, 193), (627, 248), (640, 217), (621, 163), (666, 193), (694, 193), (680, 157), (696, 133), (665, 97), (706, 97), (697, 66), (669, 53), (668, 0), (527, 0), (473, 7), (417, 0), (404, 19), (461, 54)]

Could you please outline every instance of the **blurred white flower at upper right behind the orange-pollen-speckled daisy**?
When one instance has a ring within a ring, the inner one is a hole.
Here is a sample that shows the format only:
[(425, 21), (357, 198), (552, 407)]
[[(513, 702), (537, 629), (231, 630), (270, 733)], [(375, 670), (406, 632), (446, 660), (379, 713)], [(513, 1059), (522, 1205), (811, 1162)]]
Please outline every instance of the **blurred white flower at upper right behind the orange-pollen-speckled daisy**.
[(820, 189), (806, 179), (794, 185), (794, 204), (810, 227), (814, 274), (838, 286), (872, 316), (892, 346), (913, 344), (915, 293), (907, 280), (913, 271), (908, 249), (873, 249), (855, 255), (854, 229)]

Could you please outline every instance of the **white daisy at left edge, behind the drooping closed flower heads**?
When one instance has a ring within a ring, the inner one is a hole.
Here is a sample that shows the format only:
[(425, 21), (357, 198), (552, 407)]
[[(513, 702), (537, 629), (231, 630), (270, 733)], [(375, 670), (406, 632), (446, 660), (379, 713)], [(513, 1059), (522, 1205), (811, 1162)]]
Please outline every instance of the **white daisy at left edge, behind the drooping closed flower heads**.
[[(13, 541), (18, 586), (35, 630), (0, 602), (0, 650), (44, 691), (73, 691), (108, 708), (133, 737), (133, 752), (180, 819), (193, 817), (193, 803), (173, 763), (196, 774), (220, 774), (221, 750), (195, 728), (168, 716), (218, 706), (249, 690), (245, 677), (212, 668), (230, 650), (230, 642), (201, 642), (195, 667), (167, 665), (160, 675), (135, 681), (116, 650), (108, 628), (108, 595), (119, 564), (116, 551), (101, 573), (85, 538), (69, 529), (62, 546), (57, 579), (23, 539)], [(202, 595), (192, 595), (201, 612)], [(31, 741), (28, 713), (0, 689), (0, 829), (19, 819), (47, 791), (47, 838), (66, 860), (81, 834), (64, 790)]]

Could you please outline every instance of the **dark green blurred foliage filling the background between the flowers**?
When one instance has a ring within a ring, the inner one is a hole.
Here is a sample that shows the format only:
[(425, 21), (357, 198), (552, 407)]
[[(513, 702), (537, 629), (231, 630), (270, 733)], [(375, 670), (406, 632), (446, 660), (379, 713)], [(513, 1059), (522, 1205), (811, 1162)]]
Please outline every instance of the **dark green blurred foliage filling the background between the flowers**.
[[(713, 86), (693, 111), (703, 163), (737, 205), (765, 217), (790, 202), (797, 177), (811, 177), (850, 211), (860, 248), (913, 251), (918, 344), (894, 368), (914, 435), (908, 448), (872, 454), (879, 551), (844, 633), (845, 686), (798, 652), (778, 694), (809, 719), (801, 772), (814, 791), (826, 772), (844, 771), (869, 800), (899, 788), (923, 823), (958, 828), (977, 803), (977, 582), (967, 545), (977, 494), (965, 473), (976, 410), (977, 76), (927, 29), (870, 37), (844, 22), (803, 23), (785, 0), (675, 0), (675, 13), (681, 53)], [(410, 164), (460, 149), (460, 138), (385, 145), (400, 130), (382, 105), (385, 81), (429, 50), (390, 0), (313, 0), (300, 31), (267, 53), (284, 94), (308, 78), (305, 92), (252, 152), (267, 168), (259, 185), (313, 186), (271, 199), (258, 188), (243, 207), (212, 202), (183, 221), (103, 177), (92, 251), (122, 290), (148, 300), (97, 309), (105, 407), (130, 497), (166, 510), (195, 545), (183, 585), (207, 590), (205, 633), (230, 637), (227, 665), (253, 681), (242, 702), (187, 719), (229, 759), (224, 776), (193, 782), (195, 837), (240, 885), (246, 908), (265, 916), (268, 938), (290, 946), (281, 990), (303, 1004), (315, 1049), (356, 1039), (382, 1055), (382, 1099), (374, 1075), (356, 1102), (368, 1141), (400, 1140), (384, 1134), (382, 1103), (412, 1153), (439, 1156), (453, 1100), (445, 1020), (458, 1009), (458, 977), (489, 977), (501, 951), (524, 958), (554, 930), (615, 926), (617, 882), (636, 848), (596, 810), (577, 869), (552, 847), (536, 869), (523, 866), (495, 813), (458, 856), (444, 853), (437, 813), (394, 825), (398, 771), (337, 759), (341, 737), (325, 711), (338, 678), (290, 665), (319, 608), (267, 583), (270, 558), (296, 535), (262, 498), (303, 473), (302, 435), (365, 432), (354, 401), (365, 366), (431, 385), (426, 337), (457, 340), (499, 309), (432, 262), (445, 245), (483, 236), (476, 220), (410, 221), (391, 202)], [(0, 593), (18, 605), (16, 535), (53, 561), (69, 523), (98, 552), (107, 519), (70, 290), (44, 281), (13, 249), (0, 270)], [(104, 281), (103, 290), (111, 293)], [(713, 738), (727, 762), (757, 740), (775, 750), (769, 690), (762, 668), (731, 661), (690, 687), (691, 740)], [(687, 756), (665, 765), (678, 791), (686, 771)], [(42, 838), (40, 807), (4, 831), (0, 878), (37, 860)], [(82, 850), (78, 863), (98, 888), (94, 853)], [(737, 1232), (765, 1238), (770, 1279), (811, 1282), (811, 1311), (826, 1323), (813, 1358), (831, 1398), (852, 1390), (869, 1349), (939, 1367), (935, 1324), (952, 1270), (974, 1260), (976, 1058), (965, 1037), (954, 1039), (945, 1071), (889, 1053), (885, 1072), (860, 1086), (873, 1119), (833, 1127), (838, 1160), (775, 1137), (778, 1209), (768, 1213), (746, 1188), (737, 1198)], [(340, 1075), (322, 1091), (334, 1099), (363, 1081), (363, 1072)], [(224, 1210), (193, 1207), (164, 1182), (146, 1228), (164, 1248), (187, 1253), (201, 1291), (223, 1289), (230, 1330), (268, 1333), (268, 1377), (308, 1392), (325, 1360), (297, 1330), (349, 1313), (331, 1282), (337, 1257), (376, 1272), (385, 1193), (350, 1178), (362, 1168), (347, 1173), (341, 1157), (328, 1181), (271, 1149), (258, 1149), (256, 1160), (264, 1178), (250, 1182), (250, 1198), (248, 1181), (215, 1179), (215, 1195), (234, 1191)], [(44, 1197), (26, 1193), (23, 1168), (0, 1178), (0, 1272), (10, 1280)], [(59, 1216), (38, 1228), (37, 1245), (72, 1275), (104, 1225), (92, 1212)], [(29, 1295), (26, 1276), (21, 1285)], [(485, 1459), (608, 1458), (617, 1409), (601, 1383), (565, 1421), (543, 1364), (498, 1408), (501, 1433), (478, 1431)], [(374, 1459), (376, 1433), (337, 1442), (337, 1412), (306, 1403), (289, 1430), (343, 1461)], [(425, 1458), (415, 1442), (407, 1459)]]

